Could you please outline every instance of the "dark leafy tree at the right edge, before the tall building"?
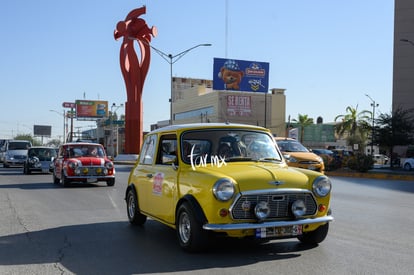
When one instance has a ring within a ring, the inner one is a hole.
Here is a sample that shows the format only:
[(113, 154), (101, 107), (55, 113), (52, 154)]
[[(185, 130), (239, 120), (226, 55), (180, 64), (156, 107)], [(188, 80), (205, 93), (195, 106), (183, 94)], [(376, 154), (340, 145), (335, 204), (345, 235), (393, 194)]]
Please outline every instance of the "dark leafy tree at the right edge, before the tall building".
[(409, 145), (414, 142), (414, 116), (413, 109), (403, 110), (401, 107), (391, 114), (381, 113), (376, 122), (375, 142), (386, 147), (391, 155), (391, 168), (394, 163), (394, 147), (396, 145)]

